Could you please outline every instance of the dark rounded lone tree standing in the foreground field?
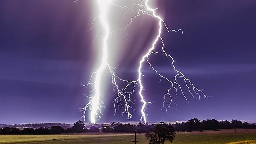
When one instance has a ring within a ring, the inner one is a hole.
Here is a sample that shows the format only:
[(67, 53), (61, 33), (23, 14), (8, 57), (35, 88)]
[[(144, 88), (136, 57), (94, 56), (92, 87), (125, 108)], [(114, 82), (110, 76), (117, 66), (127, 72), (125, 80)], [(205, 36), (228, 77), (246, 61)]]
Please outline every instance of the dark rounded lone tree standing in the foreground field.
[(151, 129), (151, 133), (146, 133), (149, 144), (164, 144), (165, 140), (173, 142), (175, 138), (175, 131), (171, 124), (167, 125), (164, 122), (156, 124)]

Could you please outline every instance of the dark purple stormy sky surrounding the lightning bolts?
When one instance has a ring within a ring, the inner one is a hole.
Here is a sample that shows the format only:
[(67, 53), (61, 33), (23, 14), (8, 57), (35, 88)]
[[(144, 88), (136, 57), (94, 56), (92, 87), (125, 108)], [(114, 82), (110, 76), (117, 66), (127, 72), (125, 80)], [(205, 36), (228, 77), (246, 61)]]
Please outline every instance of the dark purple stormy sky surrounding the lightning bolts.
[[(159, 77), (145, 65), (143, 92), (152, 102), (148, 121), (196, 117), (256, 122), (256, 1), (163, 0), (157, 7), (170, 28), (184, 31), (183, 35), (164, 32), (165, 49), (210, 100), (187, 96), (187, 104), (178, 96), (177, 111), (172, 107), (172, 113), (159, 112), (168, 86), (164, 81), (158, 84)], [(80, 108), (87, 102), (83, 94), (89, 90), (81, 84), (95, 68), (91, 42), (95, 35), (86, 32), (91, 13), (87, 0), (0, 1), (0, 123), (81, 119)], [(127, 68), (127, 62), (137, 66), (131, 57), (121, 59), (123, 76), (136, 76), (136, 69)], [(151, 60), (162, 74), (169, 74), (163, 59)], [(109, 89), (100, 122), (126, 121), (120, 111), (113, 115), (111, 85)], [(132, 121), (139, 121), (141, 103), (134, 97), (138, 102)]]

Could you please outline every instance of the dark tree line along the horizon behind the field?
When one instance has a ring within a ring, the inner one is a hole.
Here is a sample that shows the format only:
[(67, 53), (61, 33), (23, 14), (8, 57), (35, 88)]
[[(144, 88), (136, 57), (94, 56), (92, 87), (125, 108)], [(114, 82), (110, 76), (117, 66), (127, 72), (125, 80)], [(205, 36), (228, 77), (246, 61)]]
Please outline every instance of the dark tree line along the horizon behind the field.
[[(228, 120), (217, 121), (215, 119), (198, 120), (192, 118), (187, 122), (176, 124), (170, 124), (174, 131), (185, 132), (185, 131), (204, 131), (204, 130), (217, 130), (217, 129), (237, 129), (237, 128), (256, 128), (256, 124), (249, 124), (247, 122), (242, 123), (239, 120)], [(64, 129), (61, 126), (51, 126), (50, 128), (40, 127), (37, 129), (24, 128), (22, 130), (17, 128), (4, 127), (0, 129), (2, 135), (49, 135), (59, 133), (87, 133), (87, 132), (105, 132), (105, 133), (133, 133), (135, 130), (138, 133), (147, 133), (150, 129), (154, 129), (156, 124), (143, 124), (139, 122), (137, 125), (121, 124), (120, 122), (112, 122), (110, 124), (103, 124), (101, 127), (91, 126), (85, 127), (85, 124), (78, 120), (73, 124), (72, 127)]]

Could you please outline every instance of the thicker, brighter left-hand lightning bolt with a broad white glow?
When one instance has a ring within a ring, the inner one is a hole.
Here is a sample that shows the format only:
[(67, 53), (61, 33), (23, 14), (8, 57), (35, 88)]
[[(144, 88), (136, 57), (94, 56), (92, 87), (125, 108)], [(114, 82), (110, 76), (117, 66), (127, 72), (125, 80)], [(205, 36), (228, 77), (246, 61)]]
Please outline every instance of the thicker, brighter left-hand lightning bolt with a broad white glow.
[[(108, 64), (107, 58), (108, 58), (108, 38), (109, 35), (111, 34), (109, 31), (109, 24), (107, 21), (107, 17), (106, 14), (108, 12), (108, 6), (109, 4), (111, 4), (111, 0), (97, 0), (98, 2), (98, 6), (100, 9), (100, 16), (99, 17), (95, 17), (93, 19), (93, 23), (95, 21), (96, 18), (100, 18), (100, 22), (103, 26), (104, 29), (104, 39), (103, 39), (103, 45), (102, 45), (102, 59), (100, 61), (100, 67), (98, 68), (98, 70), (96, 70), (96, 72), (93, 72), (93, 74), (91, 75), (91, 78), (89, 80), (89, 82), (86, 85), (83, 85), (84, 87), (88, 87), (89, 85), (93, 85), (94, 88), (93, 90), (91, 90), (90, 92), (88, 92), (87, 94), (92, 94), (93, 96), (87, 96), (87, 98), (89, 98), (89, 102), (85, 105), (85, 107), (83, 107), (82, 111), (83, 111), (83, 118), (85, 120), (85, 112), (87, 110), (90, 111), (90, 120), (91, 123), (95, 124), (96, 123), (96, 118), (98, 117), (98, 119), (101, 119), (102, 116), (102, 107), (104, 106), (104, 103), (102, 102), (102, 100), (100, 99), (101, 96), (101, 92), (100, 92), (100, 81), (101, 81), (101, 77), (102, 77), (102, 73), (104, 72), (105, 68), (108, 68), (109, 72), (111, 73), (111, 77), (112, 77), (112, 83), (114, 85), (113, 87), (113, 91), (115, 92), (114, 96), (116, 96), (116, 98), (114, 99), (113, 103), (114, 103), (114, 107), (115, 107), (115, 114), (117, 111), (116, 105), (119, 109), (119, 106), (121, 106), (124, 111), (122, 111), (122, 115), (125, 113), (128, 115), (128, 119), (132, 118), (132, 114), (130, 113), (130, 109), (134, 110), (129, 103), (133, 103), (133, 100), (130, 98), (131, 94), (134, 93), (135, 91), (135, 86), (137, 86), (136, 81), (127, 81), (125, 79), (120, 78), (119, 76), (117, 76), (114, 72), (116, 67), (110, 66)], [(89, 30), (91, 31), (93, 29), (93, 23), (92, 23), (92, 28)], [(98, 33), (97, 33), (98, 35)], [(96, 37), (97, 37), (96, 35)], [(96, 39), (95, 37), (95, 39)], [(93, 40), (93, 42), (95, 41), (95, 39)], [(93, 79), (95, 77), (95, 79)], [(120, 82), (124, 82), (127, 83), (126, 87), (121, 88), (118, 84), (118, 81)], [(132, 87), (132, 90), (128, 90), (129, 87)], [(124, 101), (124, 105), (122, 105), (121, 103), (121, 99), (123, 99)]]

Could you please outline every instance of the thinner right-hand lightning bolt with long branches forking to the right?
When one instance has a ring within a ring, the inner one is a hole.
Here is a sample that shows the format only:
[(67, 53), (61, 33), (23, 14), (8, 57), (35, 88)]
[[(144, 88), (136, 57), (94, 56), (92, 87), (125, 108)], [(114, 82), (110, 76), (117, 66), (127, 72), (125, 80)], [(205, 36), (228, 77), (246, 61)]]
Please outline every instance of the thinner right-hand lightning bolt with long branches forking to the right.
[[(141, 113), (142, 113), (141, 120), (142, 120), (142, 118), (143, 118), (144, 122), (147, 122), (144, 111), (145, 111), (145, 107), (147, 106), (146, 104), (147, 104), (148, 102), (145, 102), (145, 101), (144, 101), (143, 94), (142, 94), (143, 85), (142, 85), (142, 83), (141, 83), (141, 76), (143, 76), (143, 74), (142, 74), (142, 72), (141, 72), (141, 67), (142, 67), (142, 64), (143, 64), (143, 62), (145, 61), (146, 58), (147, 58), (147, 63), (148, 63), (148, 65), (150, 65), (150, 67), (152, 68), (152, 70), (154, 70), (154, 71), (156, 72), (156, 74), (158, 74), (158, 76), (160, 76), (160, 82), (161, 82), (161, 79), (163, 78), (163, 79), (167, 80), (169, 83), (171, 83), (171, 87), (167, 90), (167, 93), (164, 95), (163, 107), (161, 108), (161, 110), (165, 107), (165, 101), (166, 101), (165, 97), (166, 97), (166, 96), (169, 96), (170, 101), (171, 101), (171, 102), (169, 103), (169, 105), (166, 107), (166, 112), (167, 112), (167, 109), (168, 109), (168, 108), (169, 108), (170, 111), (171, 111), (171, 103), (174, 103), (174, 104), (176, 105), (176, 103), (173, 102), (172, 95), (170, 94), (170, 92), (171, 92), (172, 89), (175, 89), (175, 94), (176, 94), (176, 96), (177, 96), (177, 90), (180, 89), (181, 95), (183, 95), (184, 98), (185, 98), (185, 100), (188, 102), (186, 96), (184, 95), (184, 92), (183, 92), (183, 90), (182, 90), (181, 85), (180, 85), (180, 84), (178, 83), (178, 81), (177, 81), (177, 78), (182, 78), (182, 79), (184, 80), (185, 85), (186, 85), (186, 87), (187, 87), (187, 90), (189, 91), (189, 93), (191, 94), (191, 96), (193, 96), (193, 98), (196, 98), (195, 95), (193, 94), (193, 92), (198, 95), (199, 100), (200, 100), (200, 94), (199, 94), (199, 92), (200, 92), (205, 98), (208, 98), (208, 97), (204, 94), (203, 90), (199, 90), (197, 87), (195, 87), (195, 86), (193, 85), (193, 83), (192, 83), (189, 79), (187, 79), (187, 78), (184, 76), (184, 74), (182, 74), (182, 72), (180, 72), (180, 71), (178, 71), (178, 70), (176, 69), (176, 67), (174, 66), (174, 62), (175, 62), (175, 61), (174, 61), (173, 57), (172, 57), (171, 55), (168, 55), (168, 54), (166, 53), (165, 49), (164, 49), (164, 43), (163, 43), (163, 39), (162, 39), (162, 37), (161, 37), (162, 27), (163, 27), (162, 24), (165, 26), (165, 28), (167, 29), (168, 32), (170, 32), (170, 31), (178, 32), (178, 31), (182, 31), (182, 30), (181, 30), (181, 29), (180, 29), (180, 30), (172, 30), (172, 29), (169, 29), (169, 28), (167, 27), (167, 25), (165, 24), (165, 21), (164, 21), (160, 16), (156, 15), (156, 10), (157, 10), (157, 9), (152, 9), (150, 6), (148, 6), (148, 0), (145, 1), (145, 7), (146, 7), (147, 11), (150, 11), (150, 12), (153, 13), (152, 16), (153, 16), (154, 18), (158, 19), (158, 24), (159, 24), (159, 26), (158, 26), (158, 35), (157, 35), (156, 39), (154, 39), (154, 42), (152, 43), (152, 46), (149, 48), (147, 54), (143, 55), (143, 57), (142, 57), (142, 59), (141, 59), (141, 61), (140, 61), (140, 63), (139, 63), (139, 69), (138, 69), (138, 73), (139, 73), (139, 79), (138, 79), (138, 81), (139, 81), (139, 85), (140, 85), (139, 95), (140, 95), (140, 97), (141, 97), (141, 102), (143, 103), (143, 106), (141, 107)], [(182, 34), (183, 34), (183, 31), (182, 31)], [(171, 59), (171, 66), (173, 67), (174, 71), (176, 72), (176, 75), (174, 76), (174, 81), (171, 81), (171, 80), (169, 80), (167, 77), (165, 77), (165, 76), (163, 76), (162, 74), (160, 74), (160, 73), (151, 65), (151, 63), (149, 62), (149, 55), (158, 53), (158, 52), (155, 52), (154, 49), (155, 49), (155, 45), (156, 45), (156, 43), (159, 41), (159, 39), (161, 39), (162, 52), (163, 52), (163, 54), (164, 54), (166, 57), (169, 57), (169, 58)], [(159, 83), (160, 83), (160, 82), (159, 82)], [(191, 89), (193, 89), (193, 92), (191, 91)], [(176, 105), (176, 107), (177, 107), (177, 105)], [(161, 110), (160, 110), (160, 111), (161, 111)], [(145, 112), (147, 112), (147, 111), (145, 111)]]

